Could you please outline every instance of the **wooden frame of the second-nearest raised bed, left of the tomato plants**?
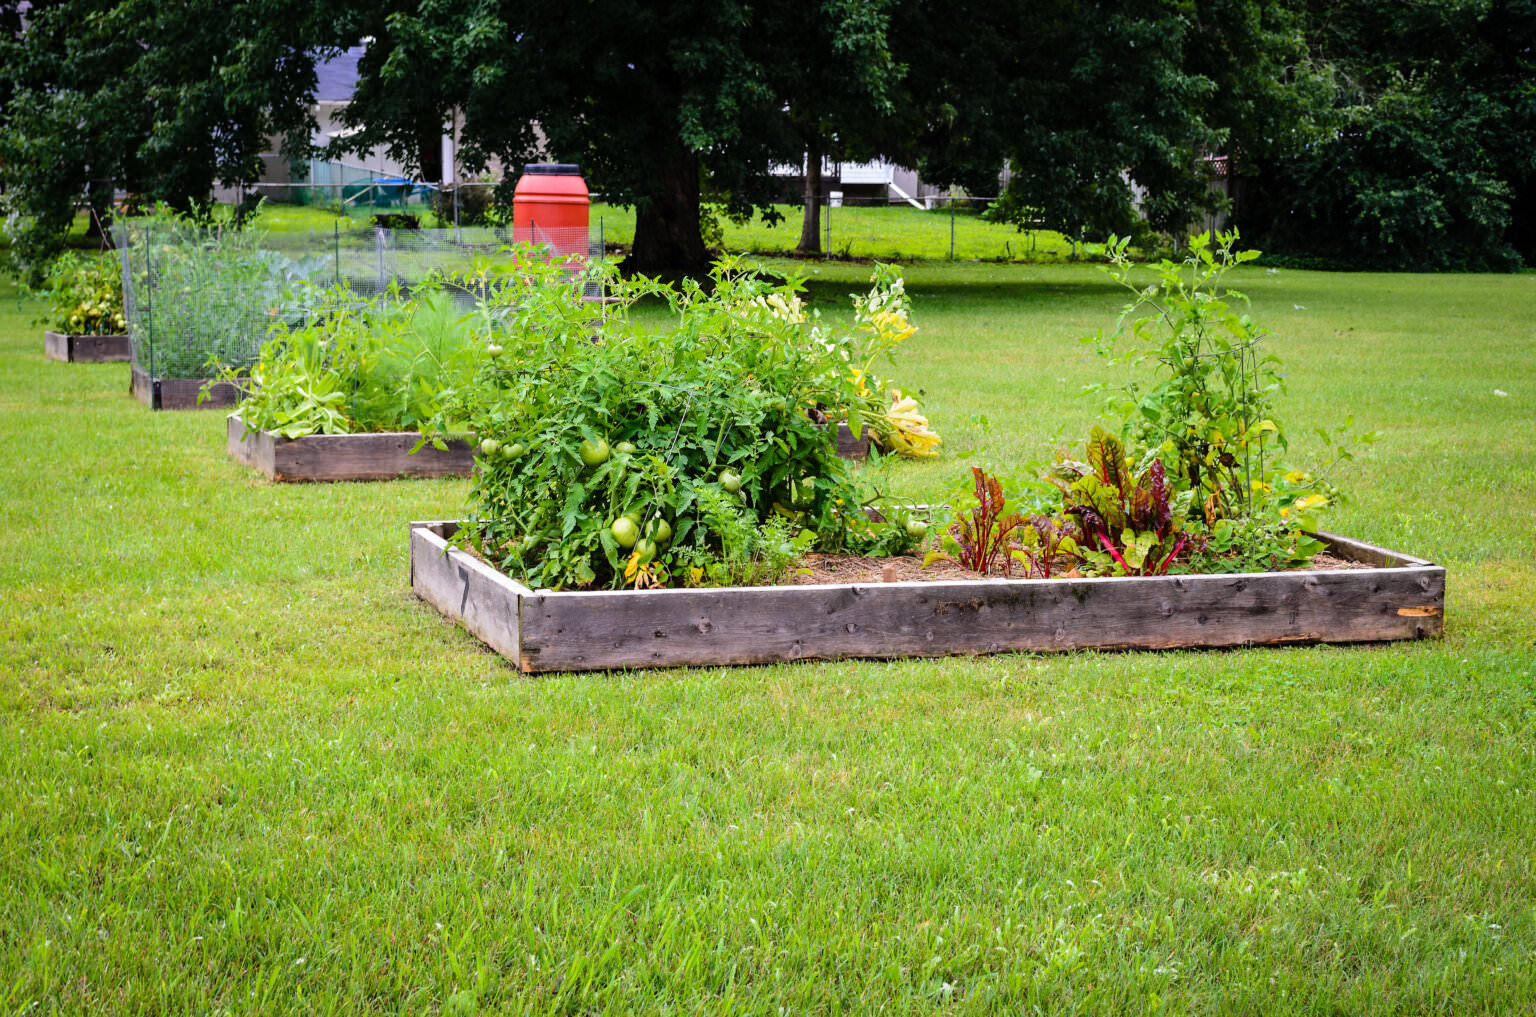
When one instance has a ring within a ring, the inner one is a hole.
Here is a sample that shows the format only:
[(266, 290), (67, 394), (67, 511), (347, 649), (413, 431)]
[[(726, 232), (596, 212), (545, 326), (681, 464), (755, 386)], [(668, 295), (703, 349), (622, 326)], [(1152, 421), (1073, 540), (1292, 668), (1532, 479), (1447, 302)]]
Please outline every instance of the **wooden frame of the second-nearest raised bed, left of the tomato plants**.
[(261, 470), (273, 481), (389, 481), (399, 476), (468, 476), (475, 472), (475, 447), (464, 439), (447, 449), (422, 446), (421, 435), (306, 435), (287, 439), (272, 432), (246, 430), (238, 416), (229, 418), (229, 455)]

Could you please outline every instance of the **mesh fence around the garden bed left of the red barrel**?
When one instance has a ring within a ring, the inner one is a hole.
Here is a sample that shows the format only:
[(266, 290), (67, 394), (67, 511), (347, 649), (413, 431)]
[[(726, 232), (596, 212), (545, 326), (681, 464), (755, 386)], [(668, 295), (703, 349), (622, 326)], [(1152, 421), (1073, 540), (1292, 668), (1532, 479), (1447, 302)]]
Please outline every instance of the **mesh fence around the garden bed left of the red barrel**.
[[(539, 230), (553, 255), (602, 258), (601, 235)], [(567, 235), (568, 234), (568, 235)], [(579, 234), (579, 235), (578, 235)], [(432, 275), (496, 258), (511, 227), (341, 229), (307, 234), (203, 229), (177, 221), (114, 226), (134, 366), (152, 378), (209, 378), (260, 356), (275, 324), (309, 315), (316, 286), (359, 298), (409, 292)], [(524, 238), (518, 238), (524, 240)], [(461, 293), (461, 300), (472, 300)]]

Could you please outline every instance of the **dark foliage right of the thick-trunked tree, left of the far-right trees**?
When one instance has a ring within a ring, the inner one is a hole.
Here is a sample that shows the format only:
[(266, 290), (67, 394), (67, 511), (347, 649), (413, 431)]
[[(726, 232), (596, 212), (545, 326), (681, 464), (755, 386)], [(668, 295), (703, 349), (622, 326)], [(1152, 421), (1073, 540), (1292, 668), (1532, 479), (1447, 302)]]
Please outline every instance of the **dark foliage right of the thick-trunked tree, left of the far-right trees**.
[[(1181, 230), (1212, 206), (1201, 155), (1240, 124), (1293, 121), (1296, 35), (1252, 0), (914, 0), (892, 20), (925, 178), (1001, 218), (1077, 235)], [(1140, 207), (1138, 207), (1140, 206)]]

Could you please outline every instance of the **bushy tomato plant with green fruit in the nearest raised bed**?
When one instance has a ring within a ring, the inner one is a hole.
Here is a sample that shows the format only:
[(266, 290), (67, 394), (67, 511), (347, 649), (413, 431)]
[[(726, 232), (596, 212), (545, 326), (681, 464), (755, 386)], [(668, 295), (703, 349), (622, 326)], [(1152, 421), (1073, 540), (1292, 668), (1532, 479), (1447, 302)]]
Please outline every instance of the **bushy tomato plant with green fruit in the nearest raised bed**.
[[(488, 340), (476, 386), (459, 393), (481, 436), (461, 541), (553, 588), (725, 581), (754, 571), (743, 548), (785, 539), (862, 553), (914, 544), (900, 512), (866, 518), (872, 492), (813, 419), (857, 412), (849, 366), (868, 335), (820, 326), (799, 313), (796, 283), (734, 261), (710, 286), (605, 273), (604, 304), (582, 300), (582, 281), (533, 252), (458, 278), (484, 293)], [(641, 298), (665, 303), (665, 327), (631, 315)]]

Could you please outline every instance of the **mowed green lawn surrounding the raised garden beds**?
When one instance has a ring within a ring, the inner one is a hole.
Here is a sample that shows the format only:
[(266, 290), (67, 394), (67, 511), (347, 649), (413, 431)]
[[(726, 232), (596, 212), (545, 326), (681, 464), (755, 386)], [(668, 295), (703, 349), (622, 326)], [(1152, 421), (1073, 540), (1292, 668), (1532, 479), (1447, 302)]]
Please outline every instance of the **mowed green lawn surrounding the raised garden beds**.
[[(908, 280), (892, 493), (1086, 435), (1094, 269)], [(0, 1008), (1533, 1012), (1536, 277), (1243, 284), (1442, 641), (527, 679), (407, 588), (465, 481), (267, 484), (0, 289)]]

